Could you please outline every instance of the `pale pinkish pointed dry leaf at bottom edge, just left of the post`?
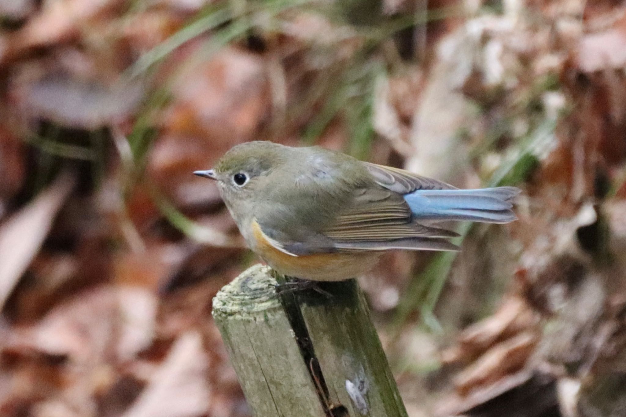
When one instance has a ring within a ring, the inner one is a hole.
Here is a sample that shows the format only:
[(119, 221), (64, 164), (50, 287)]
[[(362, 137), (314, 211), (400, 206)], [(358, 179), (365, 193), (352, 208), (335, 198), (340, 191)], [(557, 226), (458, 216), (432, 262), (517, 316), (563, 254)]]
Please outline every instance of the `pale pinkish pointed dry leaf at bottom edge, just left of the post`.
[(202, 337), (182, 334), (143, 393), (123, 417), (188, 417), (207, 413), (210, 387)]

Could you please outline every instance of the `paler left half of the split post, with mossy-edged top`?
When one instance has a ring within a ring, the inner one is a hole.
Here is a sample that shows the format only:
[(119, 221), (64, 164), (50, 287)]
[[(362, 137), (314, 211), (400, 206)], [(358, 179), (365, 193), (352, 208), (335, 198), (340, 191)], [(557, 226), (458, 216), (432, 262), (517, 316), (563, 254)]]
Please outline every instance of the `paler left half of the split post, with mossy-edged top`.
[(324, 417), (270, 269), (255, 265), (213, 299), (213, 318), (257, 417)]

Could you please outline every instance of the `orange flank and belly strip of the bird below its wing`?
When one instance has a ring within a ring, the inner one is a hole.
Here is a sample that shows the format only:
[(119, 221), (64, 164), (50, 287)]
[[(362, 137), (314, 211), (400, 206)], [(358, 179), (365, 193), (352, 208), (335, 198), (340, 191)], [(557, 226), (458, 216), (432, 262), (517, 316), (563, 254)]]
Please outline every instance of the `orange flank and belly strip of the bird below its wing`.
[(254, 251), (281, 274), (314, 281), (341, 281), (356, 278), (374, 267), (379, 253), (320, 253), (292, 256), (275, 248), (254, 219)]

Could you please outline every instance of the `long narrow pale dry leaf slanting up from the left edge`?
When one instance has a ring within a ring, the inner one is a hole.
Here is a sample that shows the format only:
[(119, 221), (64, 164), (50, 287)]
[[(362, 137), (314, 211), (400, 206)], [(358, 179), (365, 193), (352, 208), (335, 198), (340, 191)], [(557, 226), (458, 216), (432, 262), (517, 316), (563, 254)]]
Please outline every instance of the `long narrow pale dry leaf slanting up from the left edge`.
[(38, 253), (74, 182), (71, 176), (62, 174), (0, 227), (0, 309)]

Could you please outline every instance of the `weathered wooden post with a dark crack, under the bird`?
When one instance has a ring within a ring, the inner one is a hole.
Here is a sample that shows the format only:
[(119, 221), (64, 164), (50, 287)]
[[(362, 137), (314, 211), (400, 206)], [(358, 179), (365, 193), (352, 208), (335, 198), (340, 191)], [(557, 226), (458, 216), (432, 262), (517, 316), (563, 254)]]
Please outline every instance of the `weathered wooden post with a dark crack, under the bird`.
[(353, 279), (277, 296), (255, 265), (213, 299), (213, 317), (257, 417), (406, 417)]

